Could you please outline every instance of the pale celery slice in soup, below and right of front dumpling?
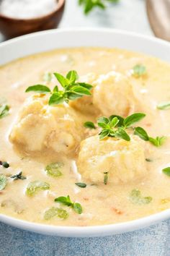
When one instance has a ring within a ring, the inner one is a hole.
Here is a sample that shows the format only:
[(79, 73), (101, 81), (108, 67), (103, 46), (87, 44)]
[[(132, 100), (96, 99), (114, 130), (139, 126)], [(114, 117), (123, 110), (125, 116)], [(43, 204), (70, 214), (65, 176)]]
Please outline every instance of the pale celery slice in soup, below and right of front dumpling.
[(152, 197), (142, 197), (138, 189), (133, 189), (130, 193), (130, 201), (135, 205), (147, 205), (152, 201)]

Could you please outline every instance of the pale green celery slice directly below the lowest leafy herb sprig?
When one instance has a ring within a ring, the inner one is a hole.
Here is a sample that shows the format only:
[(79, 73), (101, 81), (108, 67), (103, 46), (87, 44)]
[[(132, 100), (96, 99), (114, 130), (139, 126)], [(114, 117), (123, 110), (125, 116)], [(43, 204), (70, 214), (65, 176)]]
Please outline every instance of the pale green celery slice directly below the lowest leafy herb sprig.
[(48, 221), (55, 216), (57, 216), (58, 218), (66, 219), (68, 218), (68, 213), (66, 210), (63, 210), (62, 208), (52, 207), (45, 211), (44, 219), (45, 221)]

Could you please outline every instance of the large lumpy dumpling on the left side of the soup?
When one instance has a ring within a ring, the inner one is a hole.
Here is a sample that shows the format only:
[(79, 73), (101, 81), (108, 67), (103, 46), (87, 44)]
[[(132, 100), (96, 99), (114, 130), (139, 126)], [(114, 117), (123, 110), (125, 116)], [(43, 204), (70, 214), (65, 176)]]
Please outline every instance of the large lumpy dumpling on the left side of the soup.
[(9, 139), (29, 152), (68, 154), (75, 152), (83, 136), (76, 111), (67, 105), (49, 106), (46, 96), (34, 95), (24, 103)]

